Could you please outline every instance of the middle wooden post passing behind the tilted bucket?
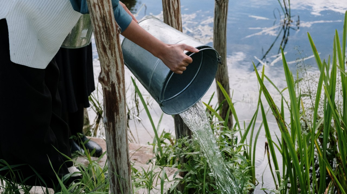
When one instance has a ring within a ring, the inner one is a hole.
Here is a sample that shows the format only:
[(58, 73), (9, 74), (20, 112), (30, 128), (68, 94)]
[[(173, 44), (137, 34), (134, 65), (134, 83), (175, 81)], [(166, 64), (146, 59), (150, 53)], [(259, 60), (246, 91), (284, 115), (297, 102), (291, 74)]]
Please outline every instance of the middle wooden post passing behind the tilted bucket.
[[(182, 31), (181, 3), (180, 0), (162, 0), (164, 23)], [(176, 138), (191, 136), (192, 131), (183, 122), (182, 118), (174, 115)]]

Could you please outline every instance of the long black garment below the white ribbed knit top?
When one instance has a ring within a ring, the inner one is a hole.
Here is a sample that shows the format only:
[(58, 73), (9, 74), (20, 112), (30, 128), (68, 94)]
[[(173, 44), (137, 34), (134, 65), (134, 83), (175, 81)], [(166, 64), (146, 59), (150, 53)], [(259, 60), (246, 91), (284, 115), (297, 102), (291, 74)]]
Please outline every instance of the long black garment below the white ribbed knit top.
[(71, 154), (57, 92), (58, 66), (54, 60), (45, 69), (12, 62), (6, 19), (0, 19), (0, 37), (0, 166), (3, 160), (14, 165), (0, 175), (53, 188), (56, 173), (62, 177), (73, 165), (64, 156)]

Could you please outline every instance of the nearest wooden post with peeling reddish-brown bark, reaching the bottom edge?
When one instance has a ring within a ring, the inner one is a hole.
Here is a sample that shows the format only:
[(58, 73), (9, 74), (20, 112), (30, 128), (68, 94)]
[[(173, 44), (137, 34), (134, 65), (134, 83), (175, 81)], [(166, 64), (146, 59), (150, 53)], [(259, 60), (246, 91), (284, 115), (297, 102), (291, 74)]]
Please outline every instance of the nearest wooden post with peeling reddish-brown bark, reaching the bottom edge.
[(126, 130), (125, 80), (119, 27), (110, 0), (87, 0), (101, 65), (110, 192), (133, 193)]

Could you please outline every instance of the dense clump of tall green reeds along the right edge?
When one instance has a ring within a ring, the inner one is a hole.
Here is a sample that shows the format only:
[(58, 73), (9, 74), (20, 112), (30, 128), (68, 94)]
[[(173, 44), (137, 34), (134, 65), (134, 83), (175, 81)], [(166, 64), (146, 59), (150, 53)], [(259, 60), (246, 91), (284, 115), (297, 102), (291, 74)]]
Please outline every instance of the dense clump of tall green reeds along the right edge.
[[(295, 81), (289, 71), (283, 50), (283, 67), (286, 75), (287, 90), (290, 101), (287, 104), (289, 109), (290, 121), (285, 121), (284, 98), (278, 107), (272, 100), (267, 91), (262, 77), (259, 75), (256, 67), (255, 72), (271, 111), (277, 120), (281, 137), (277, 138), (276, 144), (271, 136), (267, 135), (269, 150), (271, 151), (272, 162), (276, 168), (277, 156), (274, 149), (278, 149), (282, 155), (282, 175), (277, 174), (274, 178), (276, 189), (272, 191), (280, 193), (345, 193), (347, 190), (347, 166), (346, 166), (346, 119), (347, 119), (347, 89), (345, 73), (345, 48), (346, 48), (346, 27), (347, 12), (345, 14), (345, 23), (342, 38), (342, 50), (339, 36), (336, 30), (333, 41), (333, 55), (327, 62), (318, 54), (313, 40), (308, 34), (312, 50), (320, 70), (320, 76), (317, 86), (317, 92), (314, 102), (314, 114), (312, 119), (305, 117), (305, 110), (302, 108), (301, 92), (295, 90)], [(263, 69), (264, 70), (264, 69)], [(336, 85), (337, 72), (340, 71), (342, 107), (336, 104)], [(321, 94), (324, 95), (323, 115), (319, 117), (318, 109)], [(261, 102), (263, 122), (266, 122), (263, 105)], [(280, 109), (280, 110), (279, 110)], [(301, 120), (305, 120), (307, 129), (303, 132)], [(265, 126), (265, 125), (264, 125)], [(265, 130), (266, 127), (265, 127)], [(276, 148), (275, 148), (276, 147)], [(329, 149), (328, 149), (329, 148)], [(331, 152), (330, 152), (331, 151)], [(270, 163), (270, 160), (269, 160)], [(317, 166), (318, 163), (318, 166)], [(273, 175), (275, 176), (275, 175)]]

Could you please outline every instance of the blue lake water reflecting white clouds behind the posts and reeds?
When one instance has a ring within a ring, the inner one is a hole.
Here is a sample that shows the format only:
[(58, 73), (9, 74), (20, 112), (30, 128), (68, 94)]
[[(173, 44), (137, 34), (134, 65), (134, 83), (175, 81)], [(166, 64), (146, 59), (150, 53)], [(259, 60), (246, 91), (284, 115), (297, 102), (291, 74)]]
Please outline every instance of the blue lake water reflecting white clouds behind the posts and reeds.
[[(132, 11), (138, 14), (137, 19), (145, 15), (154, 15), (162, 19), (162, 4), (160, 0), (132, 0), (134, 4)], [(146, 9), (144, 8), (145, 5)], [(142, 9), (140, 9), (142, 7)], [(309, 69), (311, 73), (317, 71), (312, 50), (308, 42), (307, 32), (313, 38), (321, 58), (328, 59), (332, 55), (333, 37), (335, 29), (342, 37), (344, 13), (347, 10), (346, 0), (291, 0), (290, 1), (291, 25), (283, 28), (283, 12), (277, 0), (242, 0), (229, 1), (228, 21), (227, 21), (227, 64), (230, 80), (230, 90), (233, 93), (232, 101), (235, 103), (235, 109), (240, 121), (250, 121), (253, 116), (258, 99), (258, 84), (255, 72), (253, 70), (254, 62), (258, 70), (265, 65), (265, 74), (272, 80), (276, 86), (282, 90), (286, 87), (283, 75), (282, 61), (279, 48), (282, 46), (286, 53), (286, 59), (290, 70), (296, 74), (297, 59), (305, 59), (306, 65), (312, 65)], [(211, 45), (213, 41), (213, 0), (181, 0), (181, 13), (183, 22), (183, 31), (191, 37), (200, 40), (202, 43)], [(286, 31), (286, 33), (284, 33)], [(284, 42), (282, 43), (282, 39)], [(340, 38), (342, 39), (342, 38)], [(93, 40), (94, 41), (94, 40)], [(94, 44), (94, 42), (93, 42)], [(271, 49), (270, 49), (271, 48)], [(100, 63), (96, 53), (95, 44), (93, 45), (94, 57), (94, 75), (95, 83), (100, 72)], [(302, 64), (302, 62), (301, 62)], [(126, 68), (126, 67), (125, 67)], [(130, 71), (125, 70), (127, 102), (129, 108), (129, 127), (132, 135), (130, 141), (146, 144), (153, 141), (153, 129), (145, 113), (139, 113), (134, 103), (134, 87), (132, 86)], [(277, 90), (269, 83), (270, 94), (274, 101), (279, 104), (281, 97)], [(138, 84), (141, 85), (141, 84)], [(101, 87), (100, 84), (98, 86)], [(158, 104), (141, 88), (145, 98), (148, 96), (151, 108), (151, 116), (155, 125), (159, 122), (162, 111)], [(209, 91), (203, 96), (202, 101), (208, 102), (212, 93), (216, 91), (215, 83), (212, 84)], [(214, 97), (211, 104), (216, 104), (217, 98)], [(140, 102), (141, 103), (141, 102)], [(264, 103), (266, 104), (266, 103)], [(94, 119), (94, 113), (90, 112), (90, 119)], [(269, 127), (272, 134), (279, 134), (277, 123), (272, 116), (268, 118)], [(257, 124), (261, 123), (258, 118)], [(163, 115), (159, 127), (162, 130), (174, 132), (174, 121), (172, 116)], [(102, 136), (102, 132), (100, 133)], [(263, 180), (272, 180), (269, 173), (267, 159), (264, 158), (265, 132), (261, 132), (257, 142), (256, 153), (256, 176), (261, 182)], [(281, 166), (280, 166), (281, 168)], [(262, 177), (265, 170), (264, 177)], [(273, 188), (273, 181), (259, 184), (256, 190), (260, 188)]]

